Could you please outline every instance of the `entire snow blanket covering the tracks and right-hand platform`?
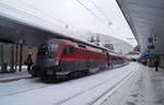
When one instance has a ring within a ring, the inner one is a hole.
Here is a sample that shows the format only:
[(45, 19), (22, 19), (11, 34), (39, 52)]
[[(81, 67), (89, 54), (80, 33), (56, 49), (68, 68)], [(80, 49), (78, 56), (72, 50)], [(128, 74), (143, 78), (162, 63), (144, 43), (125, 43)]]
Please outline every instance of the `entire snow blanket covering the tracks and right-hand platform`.
[(0, 105), (164, 105), (164, 72), (130, 62), (59, 83), (0, 82)]

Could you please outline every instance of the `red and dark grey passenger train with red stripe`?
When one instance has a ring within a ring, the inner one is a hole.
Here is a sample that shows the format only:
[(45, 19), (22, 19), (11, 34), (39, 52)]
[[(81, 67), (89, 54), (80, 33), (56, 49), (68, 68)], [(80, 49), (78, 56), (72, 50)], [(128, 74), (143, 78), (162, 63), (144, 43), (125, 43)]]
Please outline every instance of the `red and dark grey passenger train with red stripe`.
[(90, 74), (128, 59), (103, 47), (67, 39), (50, 39), (38, 48), (31, 74), (43, 81)]

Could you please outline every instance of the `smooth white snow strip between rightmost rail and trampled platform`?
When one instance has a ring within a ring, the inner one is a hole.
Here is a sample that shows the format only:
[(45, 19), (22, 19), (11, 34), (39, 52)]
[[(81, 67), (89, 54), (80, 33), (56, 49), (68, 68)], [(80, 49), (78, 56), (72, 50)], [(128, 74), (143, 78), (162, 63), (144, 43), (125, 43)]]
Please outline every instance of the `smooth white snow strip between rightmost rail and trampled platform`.
[(139, 65), (130, 70), (137, 69), (137, 72), (133, 72), (125, 82), (120, 83), (116, 90), (113, 90), (108, 94), (106, 94), (103, 98), (101, 98), (94, 105), (121, 105), (126, 101), (126, 96), (129, 95), (130, 90), (132, 89), (133, 83), (139, 79), (140, 69)]

